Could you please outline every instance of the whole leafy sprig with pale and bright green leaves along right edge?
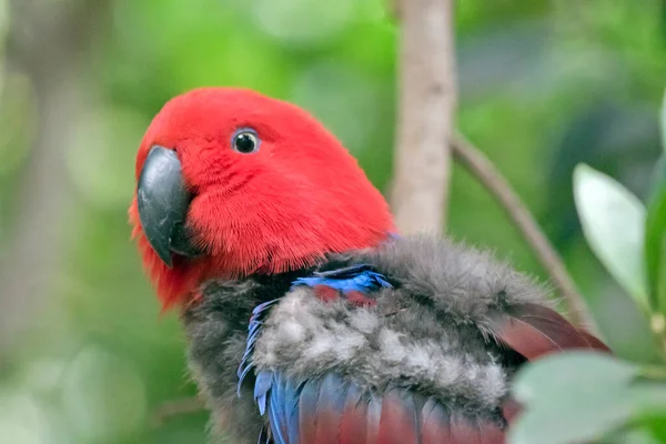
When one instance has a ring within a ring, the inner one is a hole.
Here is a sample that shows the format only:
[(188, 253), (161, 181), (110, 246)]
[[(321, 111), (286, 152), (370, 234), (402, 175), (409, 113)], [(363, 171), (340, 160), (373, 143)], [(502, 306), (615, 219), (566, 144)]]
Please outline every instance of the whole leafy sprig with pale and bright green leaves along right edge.
[[(512, 427), (512, 443), (666, 442), (666, 305), (660, 282), (666, 259), (666, 193), (662, 163), (655, 165), (657, 180), (647, 210), (608, 175), (585, 164), (574, 171), (585, 238), (645, 314), (653, 341), (640, 344), (645, 353), (636, 362), (569, 351), (523, 367), (513, 393), (525, 411)], [(622, 316), (616, 321), (625, 324)]]

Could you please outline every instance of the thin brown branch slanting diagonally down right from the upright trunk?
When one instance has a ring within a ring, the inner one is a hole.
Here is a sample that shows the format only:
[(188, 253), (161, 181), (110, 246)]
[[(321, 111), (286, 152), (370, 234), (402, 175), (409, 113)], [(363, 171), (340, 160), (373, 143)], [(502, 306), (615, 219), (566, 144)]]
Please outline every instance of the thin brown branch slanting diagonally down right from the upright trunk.
[(553, 282), (562, 291), (572, 322), (588, 329), (594, 327), (592, 319), (587, 315), (584, 300), (566, 271), (564, 262), (508, 181), (485, 154), (463, 135), (454, 134), (451, 145), (456, 161), (474, 174), (497, 199), (508, 218), (532, 246), (542, 266), (551, 274)]

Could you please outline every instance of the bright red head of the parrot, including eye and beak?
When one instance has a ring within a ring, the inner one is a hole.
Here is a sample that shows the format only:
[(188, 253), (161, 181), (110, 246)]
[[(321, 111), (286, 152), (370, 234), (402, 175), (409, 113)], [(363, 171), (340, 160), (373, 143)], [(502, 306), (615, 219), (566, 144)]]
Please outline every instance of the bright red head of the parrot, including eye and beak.
[(169, 101), (135, 176), (133, 236), (164, 307), (189, 302), (205, 279), (314, 265), (393, 231), (385, 200), (322, 124), (250, 90)]

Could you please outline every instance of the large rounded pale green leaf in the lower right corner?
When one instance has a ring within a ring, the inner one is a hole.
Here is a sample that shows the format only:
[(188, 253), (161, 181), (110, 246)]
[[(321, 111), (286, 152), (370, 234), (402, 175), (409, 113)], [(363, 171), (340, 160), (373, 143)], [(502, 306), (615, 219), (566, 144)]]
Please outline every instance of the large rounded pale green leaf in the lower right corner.
[(559, 353), (527, 365), (513, 389), (525, 410), (509, 442), (599, 440), (652, 408), (666, 408), (666, 384), (638, 376), (639, 366), (592, 352)]

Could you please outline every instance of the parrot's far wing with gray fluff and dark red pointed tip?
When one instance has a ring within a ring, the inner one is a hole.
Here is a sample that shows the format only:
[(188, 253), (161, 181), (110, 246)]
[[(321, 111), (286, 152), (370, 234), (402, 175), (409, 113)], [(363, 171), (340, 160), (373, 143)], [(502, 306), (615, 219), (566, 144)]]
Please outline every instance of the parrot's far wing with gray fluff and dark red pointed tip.
[(602, 341), (551, 309), (536, 282), (488, 252), (446, 239), (396, 236), (346, 259), (372, 264), (407, 297), (441, 312), (442, 317), (476, 325), (528, 361), (567, 349), (609, 352)]

